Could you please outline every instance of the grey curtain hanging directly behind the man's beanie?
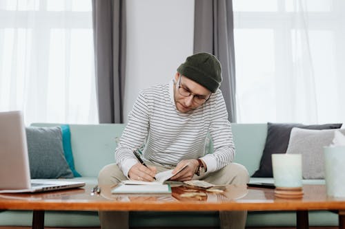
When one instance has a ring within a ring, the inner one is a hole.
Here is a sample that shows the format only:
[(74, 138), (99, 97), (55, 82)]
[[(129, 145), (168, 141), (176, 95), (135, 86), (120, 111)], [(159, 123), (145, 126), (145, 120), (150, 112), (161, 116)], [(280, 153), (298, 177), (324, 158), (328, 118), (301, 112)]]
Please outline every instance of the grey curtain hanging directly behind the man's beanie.
[(195, 0), (194, 52), (219, 58), (223, 92), (230, 122), (236, 122), (235, 50), (231, 0)]

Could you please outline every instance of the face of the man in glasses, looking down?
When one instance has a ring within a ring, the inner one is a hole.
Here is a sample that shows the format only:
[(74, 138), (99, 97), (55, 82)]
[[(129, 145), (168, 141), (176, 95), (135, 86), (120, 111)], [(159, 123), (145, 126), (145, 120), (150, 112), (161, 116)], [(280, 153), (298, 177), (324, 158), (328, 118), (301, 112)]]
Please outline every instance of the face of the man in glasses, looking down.
[[(211, 92), (208, 89), (179, 73), (175, 75), (175, 81), (177, 82), (174, 89), (175, 106), (181, 113), (197, 109), (210, 97)], [(181, 91), (185, 96), (181, 94)]]

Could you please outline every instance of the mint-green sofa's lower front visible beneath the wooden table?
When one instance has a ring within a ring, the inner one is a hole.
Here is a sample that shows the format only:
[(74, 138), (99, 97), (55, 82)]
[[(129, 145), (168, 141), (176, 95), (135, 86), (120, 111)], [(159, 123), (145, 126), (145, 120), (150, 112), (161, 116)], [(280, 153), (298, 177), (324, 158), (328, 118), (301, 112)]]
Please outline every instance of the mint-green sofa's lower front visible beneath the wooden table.
[[(310, 226), (338, 226), (338, 215), (329, 211), (309, 211)], [(46, 211), (46, 227), (99, 227), (98, 212), (94, 211)], [(6, 210), (0, 212), (0, 226), (32, 226), (32, 211)], [(219, 226), (218, 212), (130, 212), (130, 226), (140, 228)], [(247, 227), (296, 226), (296, 212), (249, 211)]]

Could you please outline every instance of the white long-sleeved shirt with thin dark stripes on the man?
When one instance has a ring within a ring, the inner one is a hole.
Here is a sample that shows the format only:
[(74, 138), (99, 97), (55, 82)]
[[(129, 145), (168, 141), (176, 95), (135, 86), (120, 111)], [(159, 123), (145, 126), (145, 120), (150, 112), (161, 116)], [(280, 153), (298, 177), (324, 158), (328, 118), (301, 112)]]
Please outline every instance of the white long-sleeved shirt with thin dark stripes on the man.
[[(233, 161), (235, 146), (223, 95), (218, 89), (193, 111), (181, 113), (175, 107), (174, 83), (144, 89), (128, 116), (115, 160), (124, 175), (137, 163), (132, 150), (146, 143), (144, 158), (150, 162), (176, 166), (181, 160), (201, 158), (207, 173)], [(205, 153), (210, 133), (214, 153)]]

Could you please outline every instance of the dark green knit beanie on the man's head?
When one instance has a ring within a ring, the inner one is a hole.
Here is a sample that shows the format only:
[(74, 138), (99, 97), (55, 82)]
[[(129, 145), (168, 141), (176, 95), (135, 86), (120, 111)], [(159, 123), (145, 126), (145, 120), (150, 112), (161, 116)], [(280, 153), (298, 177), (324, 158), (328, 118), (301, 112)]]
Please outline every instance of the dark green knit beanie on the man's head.
[(221, 65), (217, 58), (207, 52), (188, 56), (185, 63), (177, 68), (177, 72), (199, 83), (215, 93), (221, 83)]

